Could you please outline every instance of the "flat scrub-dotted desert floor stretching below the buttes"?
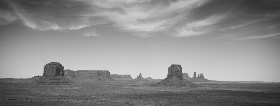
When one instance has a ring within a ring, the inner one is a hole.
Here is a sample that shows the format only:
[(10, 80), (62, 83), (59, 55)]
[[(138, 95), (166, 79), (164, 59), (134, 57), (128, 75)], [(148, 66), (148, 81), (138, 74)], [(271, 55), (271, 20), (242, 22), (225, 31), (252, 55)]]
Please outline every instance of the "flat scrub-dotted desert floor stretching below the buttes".
[(158, 87), (155, 81), (74, 81), (39, 85), (35, 79), (0, 79), (0, 106), (256, 106), (280, 105), (280, 83), (193, 82)]

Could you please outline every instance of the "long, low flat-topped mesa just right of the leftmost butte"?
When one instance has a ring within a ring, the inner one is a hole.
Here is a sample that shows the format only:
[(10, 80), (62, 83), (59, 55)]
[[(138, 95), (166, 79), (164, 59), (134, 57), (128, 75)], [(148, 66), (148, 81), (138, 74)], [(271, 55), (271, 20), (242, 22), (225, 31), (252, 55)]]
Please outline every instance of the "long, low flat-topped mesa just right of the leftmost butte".
[(71, 80), (114, 80), (108, 70), (64, 70), (64, 75)]

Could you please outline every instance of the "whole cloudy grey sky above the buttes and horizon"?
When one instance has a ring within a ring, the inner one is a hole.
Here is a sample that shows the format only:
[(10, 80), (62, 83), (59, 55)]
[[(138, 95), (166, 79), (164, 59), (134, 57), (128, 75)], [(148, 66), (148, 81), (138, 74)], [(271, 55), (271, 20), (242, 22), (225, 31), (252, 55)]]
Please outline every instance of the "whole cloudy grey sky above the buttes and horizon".
[(280, 82), (279, 0), (1, 0), (0, 78), (64, 70)]

